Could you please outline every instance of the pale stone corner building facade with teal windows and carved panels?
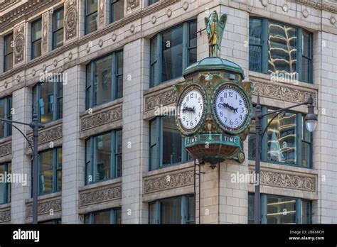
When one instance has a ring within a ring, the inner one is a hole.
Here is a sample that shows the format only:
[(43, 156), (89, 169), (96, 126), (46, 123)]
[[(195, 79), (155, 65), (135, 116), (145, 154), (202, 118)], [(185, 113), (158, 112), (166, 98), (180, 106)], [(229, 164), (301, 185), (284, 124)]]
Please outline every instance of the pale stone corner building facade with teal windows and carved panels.
[[(308, 133), (299, 106), (267, 128), (262, 223), (337, 223), (336, 1), (8, 0), (0, 3), (0, 115), (29, 123), (36, 111), (45, 125), (39, 222), (254, 221), (246, 179), (254, 135), (244, 163), (213, 170), (189, 158), (171, 111), (173, 84), (208, 56), (204, 18), (213, 10), (228, 14), (220, 56), (244, 69), (253, 103), (260, 94), (267, 112), (312, 94), (319, 118)], [(0, 137), (0, 173), (18, 179), (0, 184), (0, 223), (31, 223), (31, 149), (8, 124)]]

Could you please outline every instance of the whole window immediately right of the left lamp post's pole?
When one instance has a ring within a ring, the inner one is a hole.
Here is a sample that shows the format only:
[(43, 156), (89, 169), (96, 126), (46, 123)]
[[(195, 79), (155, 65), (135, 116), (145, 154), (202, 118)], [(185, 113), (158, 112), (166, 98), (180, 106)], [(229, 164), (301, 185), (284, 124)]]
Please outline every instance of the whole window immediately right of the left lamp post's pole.
[(62, 148), (54, 148), (38, 154), (39, 194), (62, 190)]

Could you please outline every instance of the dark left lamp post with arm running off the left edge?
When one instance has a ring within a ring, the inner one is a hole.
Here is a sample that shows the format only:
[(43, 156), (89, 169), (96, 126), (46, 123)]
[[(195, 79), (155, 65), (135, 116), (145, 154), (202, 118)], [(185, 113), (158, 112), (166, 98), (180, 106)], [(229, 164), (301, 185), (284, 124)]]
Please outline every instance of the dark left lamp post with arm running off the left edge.
[[(38, 121), (38, 115), (33, 113), (33, 120), (30, 124), (26, 124), (23, 122), (12, 121), (8, 119), (0, 119), (0, 121), (6, 122), (16, 128), (21, 135), (26, 138), (28, 141), (28, 145), (30, 146), (33, 154), (33, 224), (38, 224), (38, 129), (44, 128), (42, 124)], [(33, 130), (33, 147), (31, 146), (31, 142), (29, 141), (28, 137), (21, 131), (20, 128), (15, 126), (14, 124), (22, 124), (31, 127)]]

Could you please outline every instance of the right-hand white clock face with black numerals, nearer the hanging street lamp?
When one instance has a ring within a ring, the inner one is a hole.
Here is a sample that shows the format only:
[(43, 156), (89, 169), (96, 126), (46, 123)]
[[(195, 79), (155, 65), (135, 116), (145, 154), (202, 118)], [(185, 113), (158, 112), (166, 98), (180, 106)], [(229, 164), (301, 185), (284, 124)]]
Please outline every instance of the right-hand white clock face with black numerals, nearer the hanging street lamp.
[(225, 84), (215, 92), (215, 116), (225, 131), (240, 132), (248, 118), (248, 102), (239, 87)]

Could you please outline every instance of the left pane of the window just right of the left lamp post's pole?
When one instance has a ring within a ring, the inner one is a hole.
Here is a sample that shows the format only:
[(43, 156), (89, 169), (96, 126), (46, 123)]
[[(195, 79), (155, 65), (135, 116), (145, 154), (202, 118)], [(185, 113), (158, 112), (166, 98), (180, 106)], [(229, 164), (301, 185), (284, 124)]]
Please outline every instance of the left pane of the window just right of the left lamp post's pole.
[(40, 156), (40, 194), (53, 192), (53, 150)]

